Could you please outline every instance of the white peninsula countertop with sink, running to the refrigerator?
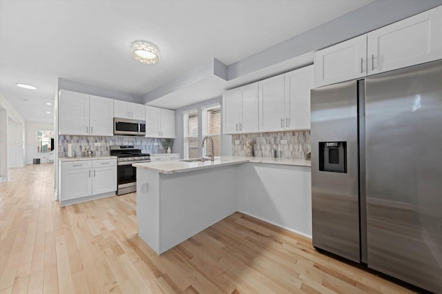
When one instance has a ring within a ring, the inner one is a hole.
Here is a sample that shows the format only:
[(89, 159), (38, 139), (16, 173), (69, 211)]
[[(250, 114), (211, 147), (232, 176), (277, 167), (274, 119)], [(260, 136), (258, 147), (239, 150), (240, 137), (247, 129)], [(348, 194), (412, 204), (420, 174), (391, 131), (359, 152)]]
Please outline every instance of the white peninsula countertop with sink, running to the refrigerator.
[(311, 161), (303, 159), (284, 159), (284, 158), (267, 158), (267, 157), (239, 157), (239, 156), (221, 156), (215, 161), (197, 161), (185, 162), (179, 160), (145, 162), (142, 164), (133, 164), (137, 168), (146, 168), (155, 170), (159, 173), (184, 173), (190, 170), (200, 170), (204, 168), (213, 168), (216, 166), (226, 166), (229, 164), (244, 164), (247, 162), (260, 164), (282, 164), (288, 166), (311, 166)]

